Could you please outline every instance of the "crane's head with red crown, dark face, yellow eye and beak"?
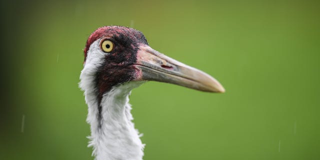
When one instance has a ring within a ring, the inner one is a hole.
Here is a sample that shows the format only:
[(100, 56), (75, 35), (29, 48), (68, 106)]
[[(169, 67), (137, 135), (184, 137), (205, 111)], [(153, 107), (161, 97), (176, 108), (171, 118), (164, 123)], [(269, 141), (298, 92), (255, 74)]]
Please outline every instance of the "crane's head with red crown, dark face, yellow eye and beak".
[(152, 49), (140, 31), (123, 26), (103, 26), (88, 37), (81, 74), (94, 77), (99, 95), (128, 81), (147, 80), (224, 92), (210, 75)]

